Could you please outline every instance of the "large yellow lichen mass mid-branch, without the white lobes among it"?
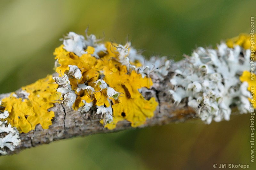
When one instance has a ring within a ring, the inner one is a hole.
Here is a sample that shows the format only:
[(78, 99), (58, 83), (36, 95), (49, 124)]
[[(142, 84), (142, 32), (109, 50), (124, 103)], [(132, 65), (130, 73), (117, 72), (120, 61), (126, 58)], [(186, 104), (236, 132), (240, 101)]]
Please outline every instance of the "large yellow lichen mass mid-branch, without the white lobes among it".
[[(134, 70), (127, 72), (127, 67), (118, 61), (119, 53), (116, 48), (117, 44), (110, 42), (105, 43), (107, 54), (100, 53), (100, 59), (92, 56), (94, 48), (88, 46), (81, 57), (76, 56), (72, 52), (67, 52), (63, 46), (55, 49), (55, 59), (58, 59), (60, 64), (56, 68), (56, 72), (65, 73), (68, 70), (68, 65), (76, 65), (82, 73), (82, 78), (79, 80), (70, 80), (72, 90), (77, 88), (77, 84), (85, 84), (92, 86), (95, 92), (81, 90), (77, 93), (77, 98), (73, 104), (73, 109), (77, 110), (84, 105), (83, 100), (87, 103), (93, 101), (93, 106), (110, 106), (108, 101), (107, 89), (100, 89), (95, 81), (98, 79), (104, 80), (109, 87), (120, 92), (118, 100), (112, 99), (113, 105), (113, 122), (105, 127), (114, 129), (116, 123), (122, 120), (127, 120), (132, 123), (132, 127), (137, 127), (145, 123), (146, 118), (153, 117), (154, 111), (158, 103), (155, 98), (150, 100), (144, 99), (138, 89), (142, 87), (150, 88), (153, 84), (148, 77), (142, 78), (141, 74)], [(136, 63), (139, 65), (140, 63)], [(101, 90), (101, 91), (100, 91)], [(103, 121), (101, 121), (103, 123)]]

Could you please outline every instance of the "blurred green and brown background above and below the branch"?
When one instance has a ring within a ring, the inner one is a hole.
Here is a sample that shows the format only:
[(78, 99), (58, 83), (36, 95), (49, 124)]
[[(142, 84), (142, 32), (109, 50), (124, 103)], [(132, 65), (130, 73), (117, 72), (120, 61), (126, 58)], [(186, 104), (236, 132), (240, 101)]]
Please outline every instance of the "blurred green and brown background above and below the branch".
[[(199, 46), (249, 33), (256, 1), (1, 0), (0, 93), (53, 72), (54, 48), (69, 31), (178, 61)], [(0, 157), (0, 169), (211, 169), (250, 163), (250, 115), (76, 137)]]

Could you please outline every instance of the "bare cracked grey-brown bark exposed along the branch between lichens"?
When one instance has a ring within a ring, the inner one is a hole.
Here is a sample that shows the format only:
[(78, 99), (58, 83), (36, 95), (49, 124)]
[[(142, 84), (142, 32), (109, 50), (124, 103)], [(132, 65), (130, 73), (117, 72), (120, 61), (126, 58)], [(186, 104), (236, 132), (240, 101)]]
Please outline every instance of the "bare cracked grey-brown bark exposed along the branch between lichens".
[[(176, 63), (172, 65), (172, 70), (175, 70), (180, 64)], [(178, 106), (173, 103), (171, 95), (168, 92), (169, 89), (172, 89), (172, 85), (169, 83), (171, 77), (172, 71), (170, 70), (162, 82), (154, 82), (152, 89), (142, 92), (146, 99), (155, 97), (158, 100), (158, 106), (154, 112), (154, 117), (147, 119), (145, 124), (138, 128), (164, 125), (171, 122), (184, 122), (187, 119), (196, 117), (195, 111), (187, 106), (186, 100), (181, 101)], [(24, 98), (23, 94), (20, 94), (20, 91), (20, 89), (16, 91), (17, 95)], [(1, 94), (0, 100), (8, 95), (10, 93)], [(6, 149), (7, 155), (19, 153), (23, 149), (48, 144), (61, 139), (132, 129), (131, 123), (128, 121), (117, 123), (116, 128), (113, 130), (103, 129), (102, 124), (99, 122), (100, 115), (95, 115), (95, 110), (81, 113), (73, 109), (68, 109), (65, 105), (58, 103), (54, 104), (54, 107), (48, 110), (55, 113), (49, 129), (43, 129), (40, 124), (37, 124), (35, 130), (31, 130), (28, 133), (21, 133), (20, 145), (16, 146), (14, 151)]]

